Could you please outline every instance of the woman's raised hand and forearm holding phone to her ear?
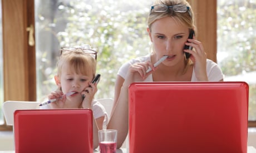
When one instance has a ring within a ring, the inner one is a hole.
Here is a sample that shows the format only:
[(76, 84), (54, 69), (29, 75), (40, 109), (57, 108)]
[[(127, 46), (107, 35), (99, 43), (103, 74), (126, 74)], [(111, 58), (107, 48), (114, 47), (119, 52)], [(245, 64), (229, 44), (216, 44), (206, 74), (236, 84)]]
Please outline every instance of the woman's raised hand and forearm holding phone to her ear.
[[(194, 37), (195, 38), (195, 37)], [(199, 81), (208, 81), (206, 73), (206, 53), (201, 42), (195, 39), (188, 39), (186, 45), (193, 47), (193, 50), (185, 49), (184, 52), (190, 53), (190, 59), (194, 63), (195, 76)]]

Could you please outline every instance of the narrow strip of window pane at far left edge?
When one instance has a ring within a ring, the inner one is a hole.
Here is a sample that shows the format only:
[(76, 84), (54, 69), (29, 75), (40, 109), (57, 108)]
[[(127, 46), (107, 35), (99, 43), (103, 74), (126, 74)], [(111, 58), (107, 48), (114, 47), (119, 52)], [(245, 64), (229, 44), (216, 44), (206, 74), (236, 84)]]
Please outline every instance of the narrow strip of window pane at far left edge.
[(0, 125), (3, 124), (3, 30), (2, 30), (2, 1), (0, 1)]

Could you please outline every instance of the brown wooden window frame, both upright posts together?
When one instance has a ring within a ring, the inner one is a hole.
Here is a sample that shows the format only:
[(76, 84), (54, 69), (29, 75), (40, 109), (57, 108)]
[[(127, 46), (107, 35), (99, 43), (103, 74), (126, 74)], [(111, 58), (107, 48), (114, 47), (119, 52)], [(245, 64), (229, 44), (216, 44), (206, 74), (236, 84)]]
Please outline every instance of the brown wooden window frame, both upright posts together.
[[(196, 38), (207, 57), (217, 62), (217, 2), (188, 0), (195, 13)], [(35, 27), (34, 0), (2, 0), (4, 101), (36, 101), (36, 49), (28, 45), (27, 27)], [(13, 11), (15, 10), (15, 11)], [(35, 34), (33, 34), (35, 38)], [(249, 121), (248, 127), (256, 127)], [(12, 130), (6, 123), (1, 130)]]

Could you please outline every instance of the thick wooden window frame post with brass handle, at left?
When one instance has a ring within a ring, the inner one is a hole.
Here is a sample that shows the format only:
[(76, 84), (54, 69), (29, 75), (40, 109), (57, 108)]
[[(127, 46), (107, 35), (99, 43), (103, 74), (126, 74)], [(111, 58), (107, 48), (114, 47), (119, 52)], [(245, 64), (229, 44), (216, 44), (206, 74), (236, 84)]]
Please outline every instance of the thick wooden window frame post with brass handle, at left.
[(34, 16), (34, 0), (2, 0), (4, 101), (36, 101), (35, 45), (28, 45), (27, 32)]

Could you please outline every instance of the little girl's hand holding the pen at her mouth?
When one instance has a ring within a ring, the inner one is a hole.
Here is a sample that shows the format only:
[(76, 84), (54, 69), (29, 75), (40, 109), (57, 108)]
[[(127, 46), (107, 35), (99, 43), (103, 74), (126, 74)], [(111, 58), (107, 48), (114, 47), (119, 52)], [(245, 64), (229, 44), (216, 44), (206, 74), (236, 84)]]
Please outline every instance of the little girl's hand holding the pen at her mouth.
[(48, 95), (48, 99), (57, 99), (55, 102), (51, 103), (50, 106), (53, 109), (60, 109), (63, 108), (65, 104), (66, 95), (63, 95), (62, 91), (60, 89), (57, 89), (56, 91), (53, 91), (50, 95)]

